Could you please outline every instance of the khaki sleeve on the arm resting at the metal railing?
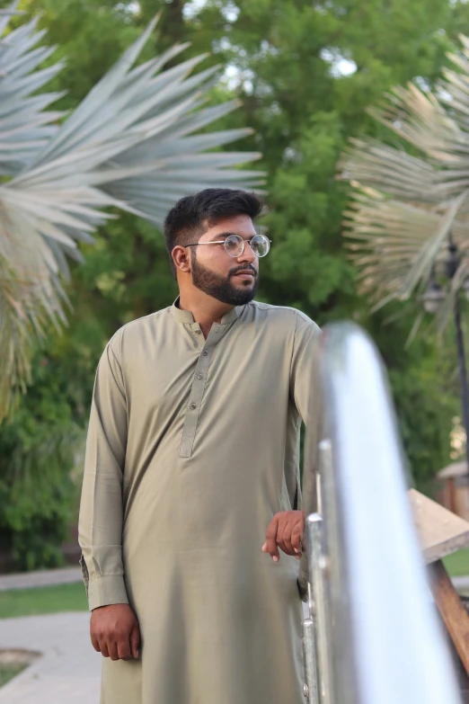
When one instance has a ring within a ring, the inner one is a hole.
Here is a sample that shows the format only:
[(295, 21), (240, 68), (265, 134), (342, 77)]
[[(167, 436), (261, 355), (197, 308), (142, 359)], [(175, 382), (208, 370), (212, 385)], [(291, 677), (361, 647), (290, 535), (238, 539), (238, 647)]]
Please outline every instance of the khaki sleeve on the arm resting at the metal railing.
[[(297, 315), (295, 345), (291, 363), (290, 388), (296, 410), (305, 423), (302, 501), (298, 508), (305, 514), (317, 511), (316, 478), (318, 473), (318, 444), (322, 439), (323, 402), (319, 378), (320, 328), (303, 314)], [(302, 598), (306, 599), (308, 579), (307, 558), (300, 563), (298, 578)]]

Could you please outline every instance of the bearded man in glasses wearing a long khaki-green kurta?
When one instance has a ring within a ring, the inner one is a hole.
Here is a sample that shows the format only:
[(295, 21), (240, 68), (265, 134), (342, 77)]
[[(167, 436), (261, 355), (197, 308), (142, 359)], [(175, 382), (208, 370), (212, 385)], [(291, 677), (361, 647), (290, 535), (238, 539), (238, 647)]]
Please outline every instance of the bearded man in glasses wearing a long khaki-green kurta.
[(180, 296), (99, 363), (79, 541), (102, 704), (304, 701), (298, 433), (319, 331), (252, 300), (261, 209), (181, 199), (164, 226)]

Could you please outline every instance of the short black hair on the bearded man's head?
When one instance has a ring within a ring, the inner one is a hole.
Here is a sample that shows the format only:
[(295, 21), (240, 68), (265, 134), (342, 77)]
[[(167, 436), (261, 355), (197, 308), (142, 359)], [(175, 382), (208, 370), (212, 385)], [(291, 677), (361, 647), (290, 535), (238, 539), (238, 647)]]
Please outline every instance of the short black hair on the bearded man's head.
[(176, 267), (171, 253), (176, 245), (197, 242), (218, 220), (233, 215), (249, 215), (253, 220), (262, 209), (262, 201), (255, 193), (233, 188), (206, 188), (195, 195), (181, 198), (164, 219), (164, 242), (174, 278)]

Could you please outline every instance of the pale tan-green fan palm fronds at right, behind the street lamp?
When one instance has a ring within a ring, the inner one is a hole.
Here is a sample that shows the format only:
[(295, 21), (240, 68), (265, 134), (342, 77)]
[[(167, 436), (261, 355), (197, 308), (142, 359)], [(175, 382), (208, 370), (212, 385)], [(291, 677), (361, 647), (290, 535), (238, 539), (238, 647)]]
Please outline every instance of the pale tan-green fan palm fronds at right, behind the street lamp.
[(352, 139), (340, 164), (353, 186), (344, 234), (359, 288), (375, 309), (392, 299), (415, 302), (412, 293), (438, 283), (447, 244), (457, 248), (440, 331), (469, 275), (469, 39), (460, 39), (462, 51), (449, 56), (454, 67), (435, 93), (397, 87), (369, 111), (398, 136), (397, 146)]

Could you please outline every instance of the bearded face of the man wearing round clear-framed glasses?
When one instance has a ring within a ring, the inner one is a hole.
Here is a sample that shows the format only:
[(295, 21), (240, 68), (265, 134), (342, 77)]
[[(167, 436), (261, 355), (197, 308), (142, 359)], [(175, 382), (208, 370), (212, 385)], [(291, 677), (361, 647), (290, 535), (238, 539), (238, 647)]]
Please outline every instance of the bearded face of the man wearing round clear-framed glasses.
[(201, 237), (202, 246), (190, 247), (192, 283), (199, 290), (231, 306), (242, 306), (254, 298), (259, 284), (259, 259), (246, 242), (243, 254), (230, 256), (224, 245), (203, 245), (225, 240), (229, 235), (251, 240), (257, 233), (248, 215), (219, 220)]

